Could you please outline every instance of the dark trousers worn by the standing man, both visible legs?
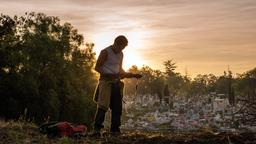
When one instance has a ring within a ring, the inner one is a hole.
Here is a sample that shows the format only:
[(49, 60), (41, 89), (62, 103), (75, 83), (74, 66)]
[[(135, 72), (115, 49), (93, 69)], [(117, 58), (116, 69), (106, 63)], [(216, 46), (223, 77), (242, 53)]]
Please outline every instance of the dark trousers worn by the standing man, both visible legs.
[[(120, 91), (119, 83), (113, 83), (111, 86), (110, 97), (110, 109), (111, 109), (111, 132), (120, 132), (121, 115), (122, 115), (122, 95)], [(94, 118), (94, 129), (99, 131), (102, 129), (103, 122), (105, 120), (106, 111), (97, 108), (97, 112)]]

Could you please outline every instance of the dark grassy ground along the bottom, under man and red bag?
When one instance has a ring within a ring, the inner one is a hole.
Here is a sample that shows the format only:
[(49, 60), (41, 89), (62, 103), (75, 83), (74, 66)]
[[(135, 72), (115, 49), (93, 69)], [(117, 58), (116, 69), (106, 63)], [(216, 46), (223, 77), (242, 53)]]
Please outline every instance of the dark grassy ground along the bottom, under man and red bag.
[(112, 136), (108, 133), (102, 137), (79, 137), (79, 138), (48, 138), (41, 134), (33, 123), (4, 122), (0, 121), (1, 144), (73, 144), (73, 143), (122, 143), (122, 144), (161, 144), (161, 143), (226, 143), (226, 144), (253, 144), (256, 143), (256, 133), (214, 133), (207, 130), (195, 132), (150, 132), (124, 130), (121, 135)]

